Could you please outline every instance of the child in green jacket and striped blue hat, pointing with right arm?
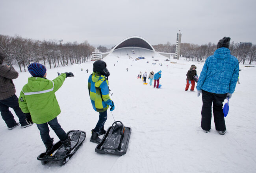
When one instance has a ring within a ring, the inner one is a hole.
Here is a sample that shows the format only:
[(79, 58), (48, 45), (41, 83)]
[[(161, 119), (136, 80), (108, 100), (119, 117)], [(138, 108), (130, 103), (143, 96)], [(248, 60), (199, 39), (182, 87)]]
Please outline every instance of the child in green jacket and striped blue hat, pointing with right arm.
[(46, 68), (42, 64), (32, 63), (28, 66), (32, 77), (23, 86), (19, 97), (19, 106), (27, 120), (36, 123), (41, 138), (48, 153), (53, 146), (49, 127), (54, 130), (67, 150), (70, 149), (70, 139), (58, 123), (57, 116), (61, 110), (55, 92), (61, 87), (66, 77), (74, 77), (72, 73), (63, 73), (50, 81), (46, 79)]

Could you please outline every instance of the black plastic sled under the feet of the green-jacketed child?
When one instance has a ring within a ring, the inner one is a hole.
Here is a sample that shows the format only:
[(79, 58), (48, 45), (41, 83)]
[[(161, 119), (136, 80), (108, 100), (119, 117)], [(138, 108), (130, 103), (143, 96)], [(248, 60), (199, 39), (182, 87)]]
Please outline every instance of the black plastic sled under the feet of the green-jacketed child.
[(41, 153), (41, 155), (37, 157), (37, 160), (40, 160), (43, 165), (48, 162), (57, 162), (60, 166), (67, 163), (82, 145), (86, 133), (84, 131), (72, 130), (69, 131), (67, 135), (70, 137), (71, 142), (71, 149), (69, 151), (67, 151), (65, 146), (59, 141), (53, 145), (52, 150), (49, 153)]

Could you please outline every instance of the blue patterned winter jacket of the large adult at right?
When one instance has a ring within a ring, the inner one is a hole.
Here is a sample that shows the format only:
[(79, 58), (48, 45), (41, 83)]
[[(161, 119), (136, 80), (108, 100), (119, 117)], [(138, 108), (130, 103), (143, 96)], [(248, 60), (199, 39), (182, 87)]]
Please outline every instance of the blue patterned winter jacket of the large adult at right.
[(239, 63), (228, 48), (219, 48), (209, 56), (197, 82), (197, 90), (232, 94), (239, 75)]

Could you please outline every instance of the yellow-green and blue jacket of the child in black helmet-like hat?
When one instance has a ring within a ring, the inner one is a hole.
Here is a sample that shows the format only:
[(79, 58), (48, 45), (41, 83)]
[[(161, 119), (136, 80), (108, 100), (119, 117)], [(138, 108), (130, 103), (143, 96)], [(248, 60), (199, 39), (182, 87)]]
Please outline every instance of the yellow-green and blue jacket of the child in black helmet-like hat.
[(93, 109), (97, 112), (108, 110), (112, 100), (109, 97), (108, 79), (93, 72), (88, 79), (88, 90)]

